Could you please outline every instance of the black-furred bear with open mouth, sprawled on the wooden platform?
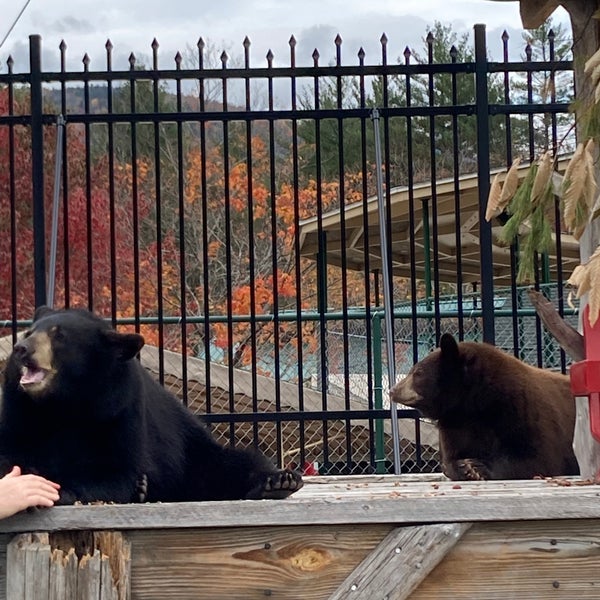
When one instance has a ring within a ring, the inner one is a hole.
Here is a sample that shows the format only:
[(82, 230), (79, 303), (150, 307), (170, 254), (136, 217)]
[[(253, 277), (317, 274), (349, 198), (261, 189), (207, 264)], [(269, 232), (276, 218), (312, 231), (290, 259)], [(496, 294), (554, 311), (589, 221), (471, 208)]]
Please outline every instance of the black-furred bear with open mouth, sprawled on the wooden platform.
[(83, 309), (39, 308), (8, 358), (0, 468), (19, 465), (75, 501), (284, 498), (299, 473), (219, 445), (140, 365), (144, 338)]

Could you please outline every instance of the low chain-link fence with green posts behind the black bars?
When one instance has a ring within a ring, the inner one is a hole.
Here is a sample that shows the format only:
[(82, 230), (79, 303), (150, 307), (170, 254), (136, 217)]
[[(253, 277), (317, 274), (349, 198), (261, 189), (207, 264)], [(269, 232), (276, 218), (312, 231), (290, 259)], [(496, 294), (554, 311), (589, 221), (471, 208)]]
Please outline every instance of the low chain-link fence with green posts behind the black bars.
[[(541, 290), (553, 302), (558, 301), (556, 285)], [(460, 298), (443, 296), (437, 308), (433, 300), (419, 300), (416, 312), (412, 303), (399, 303), (394, 323), (397, 378), (408, 372), (415, 358), (423, 358), (436, 347), (436, 331), (481, 341), (478, 302), (475, 293)], [(495, 304), (500, 348), (529, 364), (564, 370), (568, 359), (542, 329), (527, 288), (517, 288), (514, 293), (499, 289)], [(577, 327), (577, 318), (574, 309), (565, 315), (573, 327)], [(146, 348), (143, 360), (167, 388), (187, 399), (190, 409), (209, 421), (221, 443), (257, 445), (278, 463), (301, 466), (309, 473), (391, 472), (389, 418), (338, 418), (340, 411), (389, 409), (383, 312), (371, 315), (370, 337), (366, 323), (361, 310), (351, 311), (345, 326), (340, 320), (327, 321), (326, 353), (319, 360), (314, 354), (306, 357), (303, 381), (298, 380), (298, 364), (293, 362), (298, 356), (295, 347), (279, 353), (278, 377), (265, 371), (269, 361), (274, 368), (270, 351), (259, 352), (262, 375), (257, 375), (251, 364), (231, 370), (226, 361), (206, 363), (172, 352), (159, 353), (155, 348)], [(320, 368), (321, 359), (327, 363), (326, 369)], [(310, 418), (311, 413), (323, 410), (329, 414)], [(400, 413), (399, 430), (402, 472), (439, 470), (435, 424), (407, 410)]]

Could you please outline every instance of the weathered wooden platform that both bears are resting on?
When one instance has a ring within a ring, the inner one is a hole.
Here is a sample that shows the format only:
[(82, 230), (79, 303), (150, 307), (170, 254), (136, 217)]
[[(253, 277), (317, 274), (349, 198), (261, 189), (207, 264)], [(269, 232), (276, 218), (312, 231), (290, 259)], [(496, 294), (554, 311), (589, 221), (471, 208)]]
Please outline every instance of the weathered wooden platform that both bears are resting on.
[(315, 477), (283, 501), (55, 507), (0, 521), (0, 598), (7, 560), (28, 568), (15, 534), (49, 532), (51, 557), (118, 531), (134, 599), (597, 599), (600, 486), (582, 483)]

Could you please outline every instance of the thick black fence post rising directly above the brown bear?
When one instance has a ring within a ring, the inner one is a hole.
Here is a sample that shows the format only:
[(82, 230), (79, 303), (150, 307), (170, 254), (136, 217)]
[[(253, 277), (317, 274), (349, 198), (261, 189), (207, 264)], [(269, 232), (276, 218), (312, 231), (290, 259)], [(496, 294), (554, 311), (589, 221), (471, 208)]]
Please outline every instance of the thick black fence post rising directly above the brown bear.
[(481, 310), (483, 341), (493, 344), (494, 262), (492, 226), (485, 220), (490, 186), (490, 117), (485, 25), (475, 25), (475, 107), (477, 118), (477, 183), (479, 188), (479, 255), (481, 258)]

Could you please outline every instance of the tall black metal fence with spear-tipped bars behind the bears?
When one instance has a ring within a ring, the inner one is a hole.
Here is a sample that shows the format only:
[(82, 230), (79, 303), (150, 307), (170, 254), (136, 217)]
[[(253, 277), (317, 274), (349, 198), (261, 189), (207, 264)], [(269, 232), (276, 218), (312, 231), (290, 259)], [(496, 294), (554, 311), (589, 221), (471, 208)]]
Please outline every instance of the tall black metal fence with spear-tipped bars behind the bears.
[[(483, 26), (474, 42), (429, 36), (426, 57), (395, 62), (383, 36), (375, 64), (361, 50), (345, 65), (337, 38), (333, 64), (315, 50), (299, 66), (292, 38), (289, 66), (257, 67), (248, 40), (235, 65), (209, 64), (200, 40), (168, 69), (153, 43), (127, 70), (108, 42), (105, 67), (86, 55), (79, 72), (61, 45), (47, 72), (32, 36), (30, 72), (0, 73), (5, 334), (50, 281), (56, 306), (141, 331), (145, 364), (224, 440), (322, 473), (391, 468), (382, 268), (399, 376), (447, 330), (564, 369), (517, 285), (518, 248), (483, 215), (495, 169), (570, 151), (572, 64), (552, 35), (544, 62), (510, 62), (507, 36), (489, 61)], [(563, 314), (576, 253), (558, 227), (533, 281)], [(436, 469), (433, 426), (398, 417), (402, 469)]]

